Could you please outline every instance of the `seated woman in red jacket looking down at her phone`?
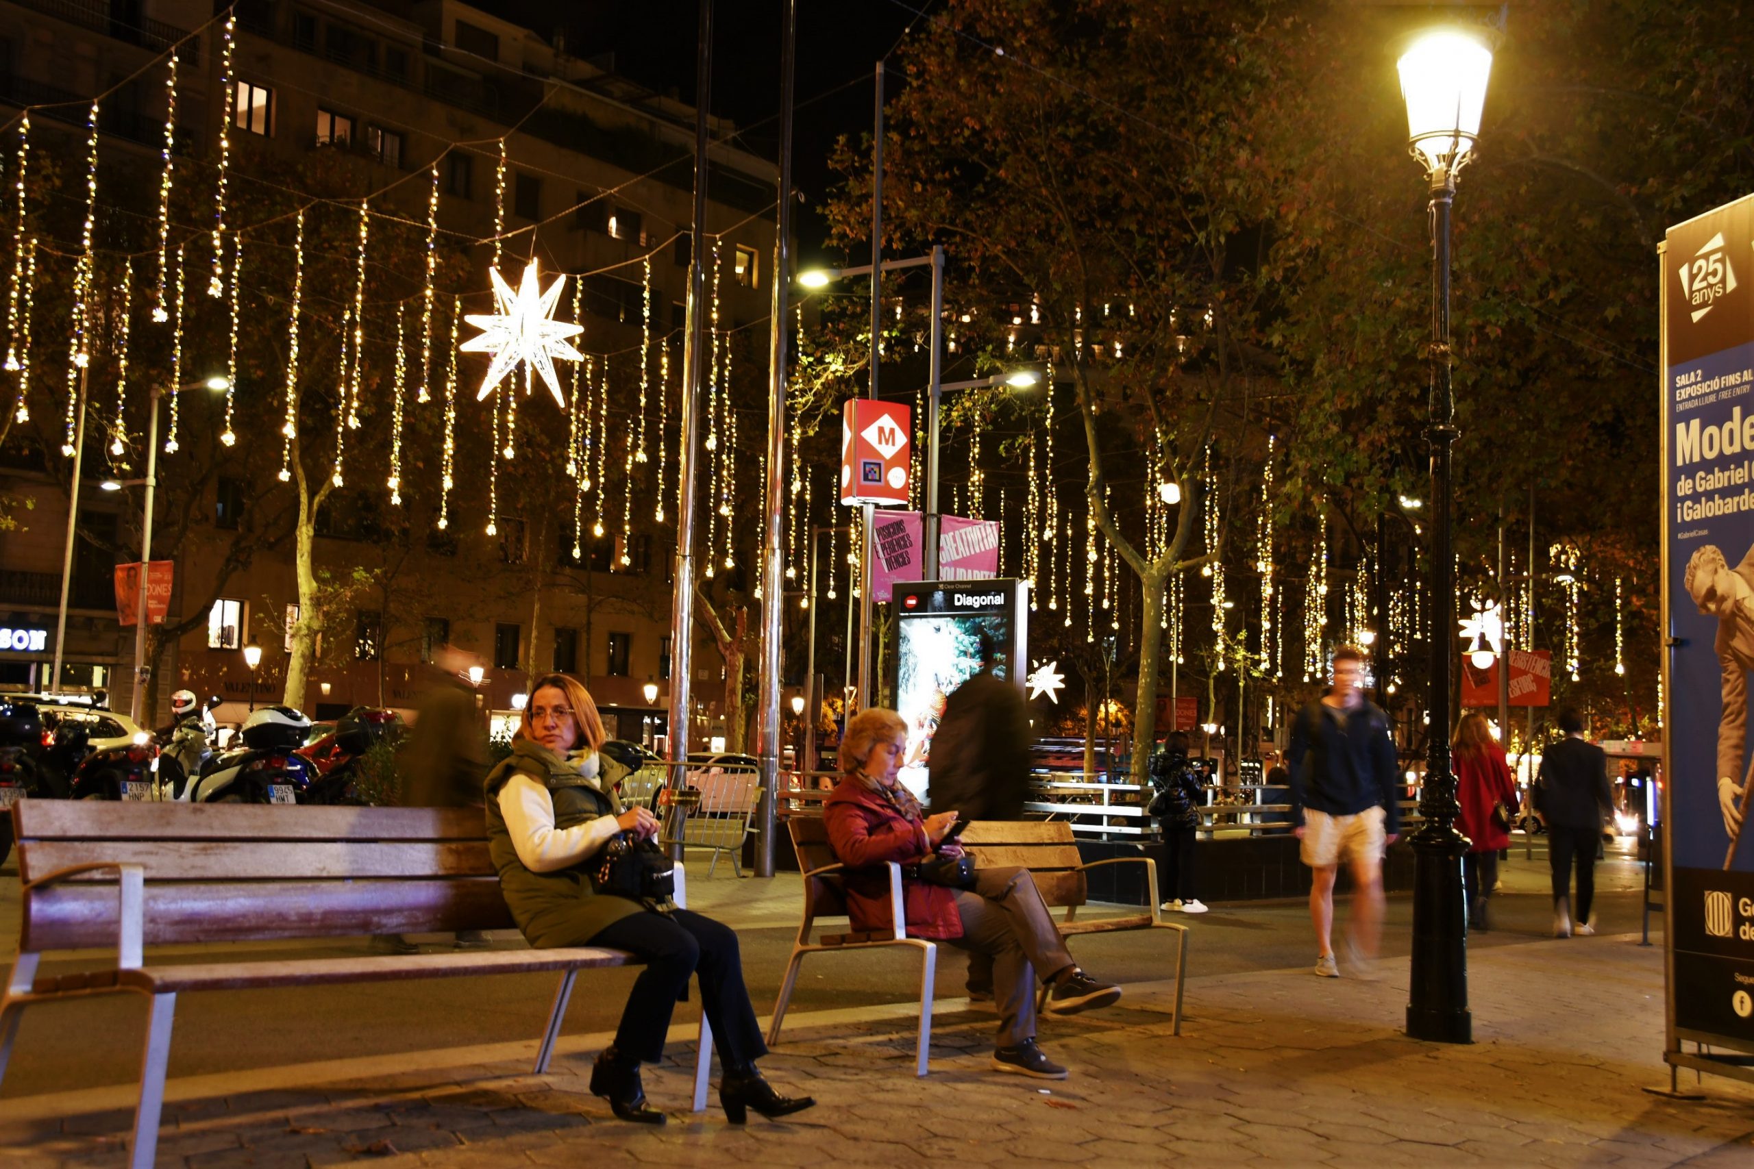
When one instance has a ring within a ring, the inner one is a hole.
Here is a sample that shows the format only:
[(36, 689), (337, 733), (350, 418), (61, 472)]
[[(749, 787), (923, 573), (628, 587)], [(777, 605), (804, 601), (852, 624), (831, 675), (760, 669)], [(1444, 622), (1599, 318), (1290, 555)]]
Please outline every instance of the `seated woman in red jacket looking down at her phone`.
[(973, 889), (919, 880), (921, 861), (959, 848), (954, 841), (944, 843), (956, 811), (923, 815), (914, 794), (896, 782), (905, 745), (902, 715), (861, 710), (840, 741), (840, 783), (823, 801), (828, 841), (849, 869), (845, 892), (852, 929), (893, 929), (889, 882), (879, 866), (902, 864), (909, 938), (935, 938), (993, 957), (1000, 1011), (993, 1069), (1065, 1080), (1066, 1069), (1035, 1045), (1037, 973), (1052, 985), (1051, 1015), (1109, 1006), (1121, 997), (1121, 988), (1096, 981), (1072, 960), (1028, 869), (977, 869)]

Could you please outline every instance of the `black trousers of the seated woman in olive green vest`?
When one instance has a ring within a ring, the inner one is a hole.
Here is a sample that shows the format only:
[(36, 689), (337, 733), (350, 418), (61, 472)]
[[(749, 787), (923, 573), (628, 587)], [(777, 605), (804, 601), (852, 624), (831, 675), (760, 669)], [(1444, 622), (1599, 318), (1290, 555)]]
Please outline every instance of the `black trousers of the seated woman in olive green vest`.
[(744, 987), (744, 960), (737, 932), (710, 917), (677, 910), (635, 913), (600, 929), (589, 945), (626, 950), (645, 960), (628, 1006), (616, 1027), (616, 1048), (628, 1059), (656, 1064), (663, 1059), (670, 1011), (688, 992), (688, 976), (700, 974), (700, 1004), (712, 1024), (712, 1041), (726, 1069), (745, 1069), (766, 1055), (756, 1010)]

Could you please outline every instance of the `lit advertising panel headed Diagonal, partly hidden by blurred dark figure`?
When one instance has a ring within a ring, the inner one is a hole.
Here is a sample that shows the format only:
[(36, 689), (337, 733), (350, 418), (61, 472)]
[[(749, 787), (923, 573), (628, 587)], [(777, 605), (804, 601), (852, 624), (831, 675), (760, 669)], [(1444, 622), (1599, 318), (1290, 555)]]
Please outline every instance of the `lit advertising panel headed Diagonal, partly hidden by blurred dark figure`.
[(993, 673), (1023, 692), (1028, 675), (1030, 598), (1021, 580), (924, 580), (895, 585), (895, 708), (907, 722), (900, 780), (926, 797), (931, 736), (951, 692), (980, 670), (980, 634), (998, 661)]

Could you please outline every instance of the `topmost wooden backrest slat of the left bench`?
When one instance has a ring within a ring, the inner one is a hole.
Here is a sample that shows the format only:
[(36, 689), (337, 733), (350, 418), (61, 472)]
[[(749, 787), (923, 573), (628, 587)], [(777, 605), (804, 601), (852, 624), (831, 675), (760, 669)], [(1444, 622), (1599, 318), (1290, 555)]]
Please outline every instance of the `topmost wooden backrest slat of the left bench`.
[(19, 799), (18, 840), (481, 840), (481, 808)]

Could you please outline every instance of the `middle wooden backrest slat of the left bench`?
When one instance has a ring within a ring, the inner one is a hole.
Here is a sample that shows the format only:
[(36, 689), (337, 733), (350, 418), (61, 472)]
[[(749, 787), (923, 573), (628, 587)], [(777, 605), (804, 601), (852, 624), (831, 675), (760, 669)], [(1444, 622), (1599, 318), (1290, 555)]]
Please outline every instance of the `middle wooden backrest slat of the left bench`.
[[(196, 841), (32, 840), (19, 848), (21, 880), (74, 864), (139, 864), (147, 882), (268, 882), (372, 876), (491, 876), (488, 841)], [(86, 878), (81, 878), (86, 880)], [(89, 880), (114, 880), (93, 873)]]

